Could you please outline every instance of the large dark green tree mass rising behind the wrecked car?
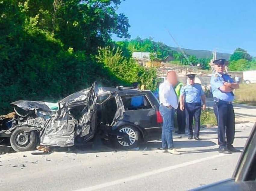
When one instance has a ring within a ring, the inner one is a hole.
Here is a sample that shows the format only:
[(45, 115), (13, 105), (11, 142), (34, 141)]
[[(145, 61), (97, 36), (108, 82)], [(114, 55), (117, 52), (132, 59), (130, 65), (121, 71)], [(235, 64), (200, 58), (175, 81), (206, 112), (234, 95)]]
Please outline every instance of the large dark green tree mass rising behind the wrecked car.
[[(94, 80), (127, 83), (95, 59), (111, 34), (130, 37), (120, 0), (0, 1), (0, 113), (16, 100), (56, 101)], [(127, 66), (128, 67), (128, 66)], [(126, 78), (124, 78), (126, 80)], [(129, 81), (130, 82), (130, 81)]]

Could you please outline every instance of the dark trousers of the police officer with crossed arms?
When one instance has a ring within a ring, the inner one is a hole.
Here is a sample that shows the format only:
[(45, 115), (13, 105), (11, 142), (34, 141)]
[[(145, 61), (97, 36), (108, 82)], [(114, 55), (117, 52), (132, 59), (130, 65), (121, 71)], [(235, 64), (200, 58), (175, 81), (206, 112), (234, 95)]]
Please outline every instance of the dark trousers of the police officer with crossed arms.
[(218, 122), (218, 143), (220, 147), (233, 144), (235, 136), (235, 114), (233, 105), (224, 101), (214, 102), (214, 113)]

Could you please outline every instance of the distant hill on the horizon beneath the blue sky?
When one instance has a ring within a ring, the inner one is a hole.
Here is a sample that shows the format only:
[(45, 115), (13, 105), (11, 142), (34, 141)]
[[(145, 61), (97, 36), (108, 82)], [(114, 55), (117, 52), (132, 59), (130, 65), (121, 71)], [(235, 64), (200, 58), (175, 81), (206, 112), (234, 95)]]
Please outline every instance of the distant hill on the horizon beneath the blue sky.
[[(179, 48), (177, 47), (170, 47), (170, 49), (180, 52)], [(182, 50), (187, 55), (195, 55), (197, 58), (212, 58), (212, 52), (209, 50), (192, 50), (192, 49), (186, 49), (186, 48), (182, 48)], [(223, 58), (223, 59), (229, 60), (230, 56), (231, 54), (228, 54), (228, 53), (217, 52), (217, 59)]]

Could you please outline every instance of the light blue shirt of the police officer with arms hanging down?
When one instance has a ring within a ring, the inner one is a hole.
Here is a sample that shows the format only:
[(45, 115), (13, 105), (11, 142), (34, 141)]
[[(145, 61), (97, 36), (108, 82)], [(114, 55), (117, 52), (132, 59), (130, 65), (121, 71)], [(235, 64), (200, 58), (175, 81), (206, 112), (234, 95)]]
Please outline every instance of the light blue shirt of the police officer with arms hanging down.
[(204, 91), (201, 84), (195, 83), (194, 85), (183, 86), (180, 94), (185, 95), (186, 103), (201, 103), (201, 96), (204, 95)]

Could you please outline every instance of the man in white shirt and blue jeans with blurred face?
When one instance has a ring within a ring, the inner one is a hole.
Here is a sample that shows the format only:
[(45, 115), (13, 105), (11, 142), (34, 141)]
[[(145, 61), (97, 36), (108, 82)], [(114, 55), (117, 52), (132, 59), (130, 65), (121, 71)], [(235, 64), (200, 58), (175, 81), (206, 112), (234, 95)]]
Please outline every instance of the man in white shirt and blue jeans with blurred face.
[(173, 145), (173, 109), (178, 108), (178, 99), (176, 92), (173, 89), (174, 83), (176, 83), (177, 75), (174, 71), (167, 73), (166, 80), (159, 86), (159, 111), (163, 117), (163, 129), (162, 129), (162, 149), (164, 153), (172, 153), (179, 155)]

